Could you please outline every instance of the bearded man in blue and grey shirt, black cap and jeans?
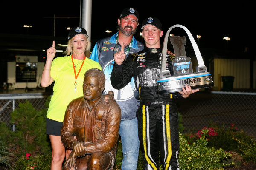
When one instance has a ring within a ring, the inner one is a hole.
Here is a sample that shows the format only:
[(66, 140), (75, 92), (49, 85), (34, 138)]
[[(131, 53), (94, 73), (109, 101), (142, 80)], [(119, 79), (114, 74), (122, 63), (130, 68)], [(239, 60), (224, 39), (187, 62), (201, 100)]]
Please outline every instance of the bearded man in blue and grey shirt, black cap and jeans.
[(106, 82), (104, 94), (108, 91), (114, 92), (116, 102), (121, 108), (121, 123), (119, 135), (122, 140), (122, 170), (136, 170), (139, 155), (138, 123), (136, 111), (139, 107), (139, 95), (135, 87), (134, 79), (124, 88), (116, 90), (110, 82), (110, 75), (113, 68), (113, 55), (124, 46), (124, 54), (137, 53), (143, 50), (144, 46), (137, 41), (133, 34), (137, 29), (139, 13), (134, 8), (125, 8), (120, 14), (117, 23), (119, 31), (111, 37), (103, 38), (96, 42), (90, 59), (99, 62), (104, 71)]

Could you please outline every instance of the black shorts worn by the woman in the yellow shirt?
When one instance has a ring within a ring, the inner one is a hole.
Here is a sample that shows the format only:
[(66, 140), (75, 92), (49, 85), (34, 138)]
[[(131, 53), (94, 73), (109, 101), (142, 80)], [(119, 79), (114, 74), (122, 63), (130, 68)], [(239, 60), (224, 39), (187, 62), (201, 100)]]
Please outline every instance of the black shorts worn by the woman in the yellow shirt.
[(46, 118), (46, 134), (61, 136), (62, 125), (63, 125), (63, 122), (58, 122), (56, 120)]

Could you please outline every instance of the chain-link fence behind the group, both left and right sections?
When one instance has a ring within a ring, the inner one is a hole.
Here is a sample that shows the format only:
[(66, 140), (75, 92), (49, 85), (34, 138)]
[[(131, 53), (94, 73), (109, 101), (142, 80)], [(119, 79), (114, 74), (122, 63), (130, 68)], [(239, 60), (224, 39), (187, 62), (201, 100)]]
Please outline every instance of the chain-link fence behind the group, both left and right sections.
[[(0, 95), (0, 122), (10, 125), (10, 113), (20, 102), (29, 100), (36, 109), (45, 108), (49, 94)], [(256, 136), (256, 93), (199, 91), (187, 99), (177, 100), (178, 111), (183, 118), (183, 133), (201, 130), (211, 123), (225, 127), (236, 125), (249, 135)], [(10, 125), (11, 128), (12, 125)], [(14, 129), (13, 129), (14, 130)]]

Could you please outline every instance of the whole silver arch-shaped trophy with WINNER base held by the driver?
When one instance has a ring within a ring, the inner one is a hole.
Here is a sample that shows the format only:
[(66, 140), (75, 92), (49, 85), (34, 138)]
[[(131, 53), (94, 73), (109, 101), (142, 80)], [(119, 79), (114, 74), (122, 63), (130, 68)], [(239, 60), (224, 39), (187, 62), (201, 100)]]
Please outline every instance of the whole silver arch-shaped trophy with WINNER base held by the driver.
[[(195, 68), (195, 73), (193, 73), (191, 58), (186, 56), (186, 37), (178, 36), (170, 37), (175, 54), (175, 59), (172, 60), (174, 75), (171, 76), (170, 71), (166, 70), (166, 57), (163, 56), (165, 56), (167, 53), (169, 33), (175, 27), (183, 28), (191, 41), (198, 61), (198, 66)], [(161, 73), (160, 79), (157, 79), (157, 94), (168, 94), (182, 91), (182, 88), (185, 87), (185, 85), (190, 85), (192, 89), (207, 88), (214, 85), (212, 76), (210, 72), (207, 72), (207, 68), (204, 65), (203, 58), (194, 38), (192, 37), (192, 34), (186, 27), (178, 24), (169, 28), (169, 30), (166, 32), (162, 50)]]

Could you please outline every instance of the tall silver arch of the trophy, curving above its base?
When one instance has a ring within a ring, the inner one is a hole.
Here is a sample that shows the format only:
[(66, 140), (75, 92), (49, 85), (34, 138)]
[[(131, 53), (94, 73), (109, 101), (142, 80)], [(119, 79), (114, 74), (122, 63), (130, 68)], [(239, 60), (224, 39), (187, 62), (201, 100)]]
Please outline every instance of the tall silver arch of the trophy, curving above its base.
[(201, 53), (198, 49), (198, 46), (197, 46), (196, 42), (195, 42), (195, 39), (193, 38), (190, 31), (186, 27), (184, 27), (182, 25), (179, 25), (179, 24), (176, 24), (176, 25), (172, 26), (171, 28), (169, 28), (169, 30), (166, 32), (166, 36), (164, 37), (163, 50), (162, 50), (162, 63), (161, 63), (162, 64), (161, 65), (161, 73), (162, 74), (160, 74), (160, 78), (165, 78), (166, 76), (170, 76), (169, 74), (166, 74), (166, 57), (163, 57), (163, 56), (165, 56), (166, 53), (167, 53), (167, 43), (168, 43), (169, 33), (172, 30), (172, 28), (176, 28), (176, 27), (183, 28), (183, 30), (185, 30), (187, 35), (189, 36), (189, 40), (190, 40), (190, 42), (193, 46), (193, 49), (195, 51), (195, 56), (198, 60), (198, 67), (199, 68), (206, 68), (205, 65), (204, 65), (204, 60), (201, 56)]

